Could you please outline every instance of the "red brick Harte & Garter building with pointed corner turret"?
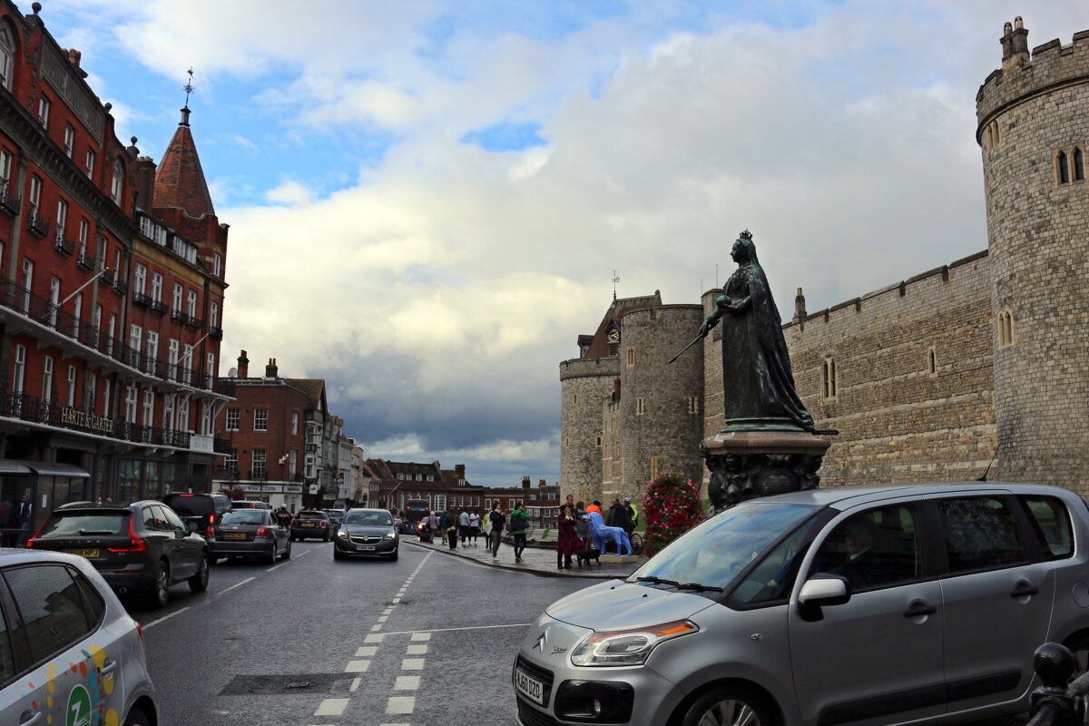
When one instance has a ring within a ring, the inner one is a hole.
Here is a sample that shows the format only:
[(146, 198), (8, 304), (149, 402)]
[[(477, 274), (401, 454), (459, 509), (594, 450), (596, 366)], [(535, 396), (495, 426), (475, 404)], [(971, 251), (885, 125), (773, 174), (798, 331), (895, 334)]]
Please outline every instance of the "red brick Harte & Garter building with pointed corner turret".
[(188, 109), (156, 173), (39, 11), (0, 0), (0, 500), (37, 520), (210, 487), (228, 237)]

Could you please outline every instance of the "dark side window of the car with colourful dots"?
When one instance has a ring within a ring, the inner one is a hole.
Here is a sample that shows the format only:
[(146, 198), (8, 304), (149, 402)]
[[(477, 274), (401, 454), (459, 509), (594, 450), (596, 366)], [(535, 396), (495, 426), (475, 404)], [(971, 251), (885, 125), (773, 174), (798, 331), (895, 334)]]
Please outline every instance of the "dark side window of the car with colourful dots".
[(35, 663), (58, 655), (90, 631), (78, 586), (63, 565), (13, 567), (3, 576)]

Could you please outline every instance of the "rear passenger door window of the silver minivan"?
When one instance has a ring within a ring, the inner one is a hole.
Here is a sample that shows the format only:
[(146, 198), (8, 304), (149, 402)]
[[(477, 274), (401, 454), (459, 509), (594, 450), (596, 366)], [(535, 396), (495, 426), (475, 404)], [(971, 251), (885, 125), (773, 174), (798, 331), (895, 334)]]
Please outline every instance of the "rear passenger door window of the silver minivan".
[(1017, 519), (1005, 500), (996, 496), (942, 500), (938, 512), (950, 574), (1027, 562)]

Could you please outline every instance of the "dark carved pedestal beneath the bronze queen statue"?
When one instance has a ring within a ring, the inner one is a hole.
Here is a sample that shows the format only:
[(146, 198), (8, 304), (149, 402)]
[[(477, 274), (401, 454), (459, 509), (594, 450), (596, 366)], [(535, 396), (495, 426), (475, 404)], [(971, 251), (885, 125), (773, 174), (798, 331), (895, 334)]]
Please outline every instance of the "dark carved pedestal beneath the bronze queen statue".
[(724, 431), (700, 444), (711, 472), (714, 512), (758, 496), (820, 484), (821, 460), (831, 442), (808, 431)]

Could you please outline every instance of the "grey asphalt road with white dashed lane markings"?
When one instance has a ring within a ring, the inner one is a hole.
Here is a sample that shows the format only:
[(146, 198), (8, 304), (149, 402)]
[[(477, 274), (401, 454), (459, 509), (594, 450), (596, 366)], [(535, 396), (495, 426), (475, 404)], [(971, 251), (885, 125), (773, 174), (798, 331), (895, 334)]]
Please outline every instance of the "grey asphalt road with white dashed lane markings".
[(334, 562), (295, 542), (276, 566), (212, 568), (144, 626), (160, 724), (513, 724), (510, 668), (543, 607), (595, 580), (540, 578), (402, 544)]

